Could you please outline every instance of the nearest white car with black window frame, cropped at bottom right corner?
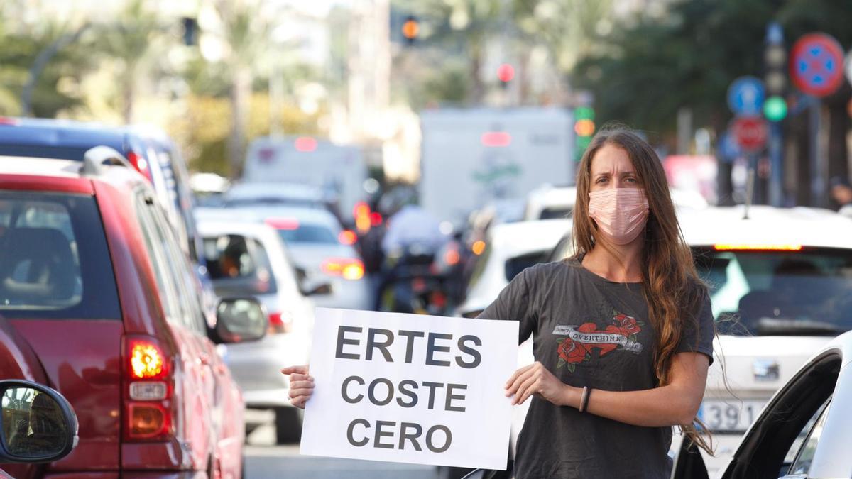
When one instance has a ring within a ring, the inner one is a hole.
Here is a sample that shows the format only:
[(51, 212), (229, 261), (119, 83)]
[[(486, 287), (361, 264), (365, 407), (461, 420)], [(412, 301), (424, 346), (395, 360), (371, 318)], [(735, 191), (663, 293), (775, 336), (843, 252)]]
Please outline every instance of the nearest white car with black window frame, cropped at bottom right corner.
[[(850, 365), (852, 332), (817, 349), (772, 396), (717, 477), (852, 477)], [(695, 447), (682, 437), (675, 443), (671, 479), (707, 477)], [(475, 470), (464, 479), (486, 477)]]

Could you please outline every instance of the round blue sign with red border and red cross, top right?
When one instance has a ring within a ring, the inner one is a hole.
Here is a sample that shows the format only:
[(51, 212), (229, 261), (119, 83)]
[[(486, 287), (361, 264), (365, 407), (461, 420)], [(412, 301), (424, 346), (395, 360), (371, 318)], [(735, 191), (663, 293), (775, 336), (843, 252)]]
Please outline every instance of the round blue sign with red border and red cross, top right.
[(843, 82), (843, 49), (825, 33), (799, 38), (790, 52), (790, 77), (808, 95), (831, 95)]

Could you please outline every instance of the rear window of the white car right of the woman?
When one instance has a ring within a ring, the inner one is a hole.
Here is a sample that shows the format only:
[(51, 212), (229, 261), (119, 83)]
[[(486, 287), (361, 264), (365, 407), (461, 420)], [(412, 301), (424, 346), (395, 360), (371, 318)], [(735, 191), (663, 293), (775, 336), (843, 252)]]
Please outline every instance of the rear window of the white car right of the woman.
[(720, 334), (826, 335), (852, 329), (852, 251), (694, 249)]

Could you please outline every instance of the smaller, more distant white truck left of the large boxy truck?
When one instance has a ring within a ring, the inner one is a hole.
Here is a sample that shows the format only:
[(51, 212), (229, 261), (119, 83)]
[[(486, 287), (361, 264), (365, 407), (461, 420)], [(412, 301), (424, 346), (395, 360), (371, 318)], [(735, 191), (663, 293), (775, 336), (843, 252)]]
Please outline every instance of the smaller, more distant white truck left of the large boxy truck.
[(335, 145), (310, 136), (257, 138), (249, 146), (243, 170), (244, 182), (298, 183), (331, 193), (346, 217), (365, 199), (366, 179), (360, 147)]

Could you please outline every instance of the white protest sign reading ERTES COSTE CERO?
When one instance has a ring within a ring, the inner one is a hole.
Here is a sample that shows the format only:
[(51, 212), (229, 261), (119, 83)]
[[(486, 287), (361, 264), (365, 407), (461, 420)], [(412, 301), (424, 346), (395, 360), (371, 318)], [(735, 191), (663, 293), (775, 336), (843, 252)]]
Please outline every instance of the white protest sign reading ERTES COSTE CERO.
[(517, 321), (318, 308), (301, 453), (504, 470)]

